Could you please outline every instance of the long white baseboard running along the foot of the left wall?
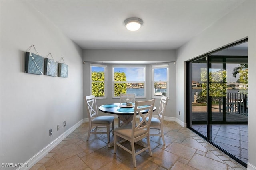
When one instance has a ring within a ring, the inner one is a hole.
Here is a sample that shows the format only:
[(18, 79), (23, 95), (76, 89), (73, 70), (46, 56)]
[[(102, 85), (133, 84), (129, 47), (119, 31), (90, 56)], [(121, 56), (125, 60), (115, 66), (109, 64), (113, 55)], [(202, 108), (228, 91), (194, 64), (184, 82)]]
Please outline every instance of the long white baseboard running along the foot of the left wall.
[(34, 164), (36, 164), (39, 160), (44, 158), (53, 148), (55, 148), (62, 140), (64, 140), (69, 134), (71, 134), (76, 128), (78, 128), (80, 125), (84, 123), (84, 119), (80, 120), (78, 123), (76, 123), (74, 126), (66, 130), (66, 132), (62, 133), (58, 138), (56, 138), (54, 141), (52, 141), (50, 144), (48, 144), (45, 148), (40, 150), (37, 154), (35, 154), (32, 158), (30, 158), (25, 164), (28, 165), (26, 168), (18, 168), (17, 170), (27, 170), (32, 168)]

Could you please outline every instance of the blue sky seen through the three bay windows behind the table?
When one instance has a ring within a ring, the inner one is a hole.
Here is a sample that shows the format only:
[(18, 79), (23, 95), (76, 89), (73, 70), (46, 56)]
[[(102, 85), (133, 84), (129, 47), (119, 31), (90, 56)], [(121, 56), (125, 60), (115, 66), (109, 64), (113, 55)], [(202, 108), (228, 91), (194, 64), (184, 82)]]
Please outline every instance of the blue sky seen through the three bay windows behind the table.
[[(167, 69), (157, 68), (154, 69), (154, 81), (166, 81), (167, 80)], [(104, 71), (103, 67), (92, 67), (92, 71)], [(114, 68), (115, 72), (124, 72), (126, 74), (126, 81), (145, 81), (144, 67), (128, 67), (128, 68)]]

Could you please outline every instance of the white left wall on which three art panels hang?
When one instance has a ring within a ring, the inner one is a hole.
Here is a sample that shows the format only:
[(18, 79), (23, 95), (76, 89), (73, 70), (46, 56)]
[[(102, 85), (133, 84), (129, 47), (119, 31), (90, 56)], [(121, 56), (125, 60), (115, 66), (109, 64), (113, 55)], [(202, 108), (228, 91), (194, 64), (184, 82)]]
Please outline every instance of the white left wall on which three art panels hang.
[[(24, 73), (32, 44), (63, 57), (68, 78)], [(28, 161), (82, 120), (82, 78), (82, 49), (27, 2), (1, 1), (1, 163)]]

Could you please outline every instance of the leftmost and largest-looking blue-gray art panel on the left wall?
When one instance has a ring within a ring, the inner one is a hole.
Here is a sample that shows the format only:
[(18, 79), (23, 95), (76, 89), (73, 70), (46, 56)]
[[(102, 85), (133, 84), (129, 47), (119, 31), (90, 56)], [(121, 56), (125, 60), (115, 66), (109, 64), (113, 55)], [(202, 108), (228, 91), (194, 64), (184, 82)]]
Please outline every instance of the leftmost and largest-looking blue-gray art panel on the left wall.
[(25, 73), (44, 74), (44, 57), (31, 52), (26, 52)]

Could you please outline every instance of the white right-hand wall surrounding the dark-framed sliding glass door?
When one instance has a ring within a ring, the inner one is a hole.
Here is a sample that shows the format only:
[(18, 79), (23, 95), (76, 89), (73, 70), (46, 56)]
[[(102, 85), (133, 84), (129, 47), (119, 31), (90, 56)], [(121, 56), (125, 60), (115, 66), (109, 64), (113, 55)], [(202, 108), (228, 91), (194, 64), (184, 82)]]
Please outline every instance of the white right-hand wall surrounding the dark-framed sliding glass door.
[[(256, 169), (256, 2), (246, 1), (177, 50), (177, 118), (186, 122), (185, 61), (248, 37), (249, 164)], [(182, 115), (178, 116), (178, 111)], [(251, 114), (250, 114), (251, 113)]]

